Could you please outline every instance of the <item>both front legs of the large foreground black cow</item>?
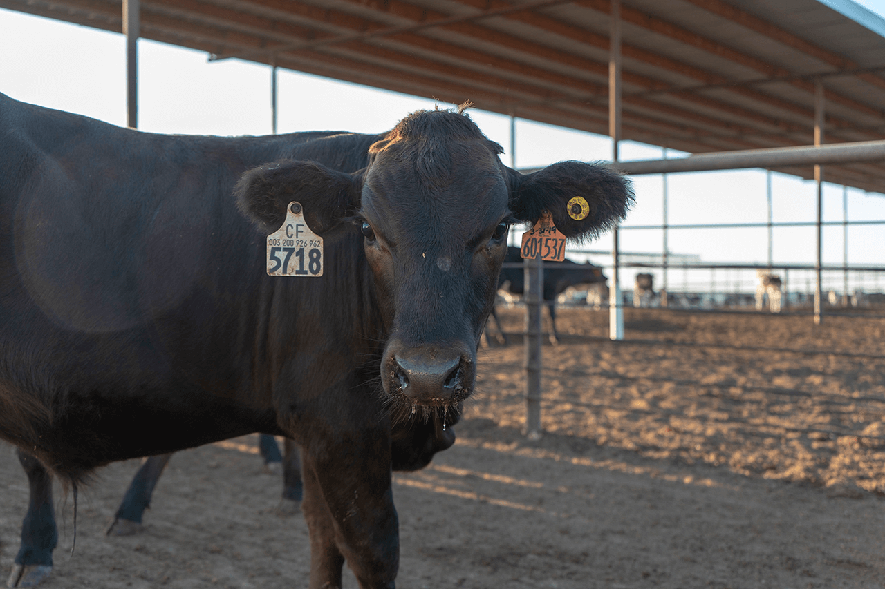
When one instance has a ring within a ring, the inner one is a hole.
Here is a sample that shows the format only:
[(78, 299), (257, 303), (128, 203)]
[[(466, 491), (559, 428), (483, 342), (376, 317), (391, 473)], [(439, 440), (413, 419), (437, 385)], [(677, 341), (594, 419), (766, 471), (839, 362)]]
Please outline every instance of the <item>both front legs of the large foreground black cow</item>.
[(393, 589), (399, 530), (389, 440), (383, 447), (364, 446), (362, 452), (355, 440), (335, 446), (322, 452), (325, 458), (309, 449), (302, 453), (302, 510), (311, 535), (310, 588), (340, 588), (346, 558), (361, 589)]

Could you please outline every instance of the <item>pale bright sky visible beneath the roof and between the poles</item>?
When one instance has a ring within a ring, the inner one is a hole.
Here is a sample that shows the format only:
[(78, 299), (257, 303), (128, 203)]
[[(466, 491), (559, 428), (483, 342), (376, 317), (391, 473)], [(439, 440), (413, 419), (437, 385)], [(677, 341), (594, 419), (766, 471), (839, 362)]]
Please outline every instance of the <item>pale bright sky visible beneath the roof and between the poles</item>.
[[(885, 14), (885, 0), (858, 2)], [(209, 62), (201, 51), (164, 43), (139, 41), (139, 119), (143, 131), (171, 134), (270, 134), (271, 73), (266, 65), (230, 59)], [(16, 100), (70, 111), (126, 125), (126, 42), (121, 34), (70, 25), (21, 12), (0, 9), (0, 92)], [(342, 130), (380, 133), (411, 111), (434, 108), (435, 101), (329, 80), (288, 70), (279, 72), (280, 133), (306, 130)], [(510, 118), (480, 110), (470, 111), (482, 131), (509, 153)], [(608, 137), (572, 131), (525, 119), (516, 121), (515, 165), (538, 167), (563, 159), (610, 159)], [(668, 157), (679, 157), (670, 150)], [(620, 158), (652, 159), (662, 150), (641, 143), (622, 142)], [(663, 232), (629, 229), (660, 225), (663, 221), (663, 185), (660, 175), (637, 176), (636, 205), (620, 231), (623, 252), (659, 256)], [(699, 223), (764, 223), (768, 217), (766, 173), (759, 170), (693, 172), (667, 176), (667, 215), (671, 225)], [(784, 174), (772, 174), (773, 220), (813, 221), (815, 187)], [(885, 197), (848, 189), (850, 220), (885, 220)], [(842, 221), (843, 187), (825, 184), (824, 220)], [(521, 233), (521, 229), (519, 231)], [(766, 228), (671, 230), (671, 259), (723, 264), (766, 264)], [(841, 226), (824, 228), (824, 264), (843, 264)], [(774, 264), (813, 264), (814, 228), (775, 228)], [(601, 237), (582, 246), (610, 251), (612, 238)], [(586, 256), (570, 254), (581, 260)], [(611, 256), (591, 255), (596, 264), (611, 264)], [(885, 228), (854, 226), (848, 234), (850, 265), (885, 266)], [(623, 261), (639, 258), (624, 258)], [(650, 258), (646, 257), (646, 260)], [(635, 268), (623, 268), (622, 284), (632, 284)], [(660, 284), (660, 272), (656, 284)], [(843, 273), (827, 272), (825, 289), (843, 290)], [(885, 272), (850, 272), (849, 291), (885, 290)], [(671, 270), (670, 291), (737, 290), (755, 287), (754, 272)], [(793, 288), (813, 285), (810, 272), (790, 273)], [(625, 287), (626, 288), (626, 287)]]

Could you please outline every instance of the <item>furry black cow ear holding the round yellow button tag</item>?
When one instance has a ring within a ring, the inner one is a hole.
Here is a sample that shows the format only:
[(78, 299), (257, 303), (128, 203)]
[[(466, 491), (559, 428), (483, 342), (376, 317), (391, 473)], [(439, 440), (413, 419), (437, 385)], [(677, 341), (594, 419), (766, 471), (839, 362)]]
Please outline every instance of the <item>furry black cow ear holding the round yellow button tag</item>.
[[(570, 161), (530, 174), (511, 172), (510, 208), (514, 216), (534, 224), (545, 210), (550, 211), (559, 232), (575, 240), (590, 239), (611, 229), (634, 202), (630, 180), (604, 164)], [(581, 218), (580, 213), (575, 215), (578, 218), (569, 215), (567, 205), (575, 196), (589, 206), (586, 217)]]

